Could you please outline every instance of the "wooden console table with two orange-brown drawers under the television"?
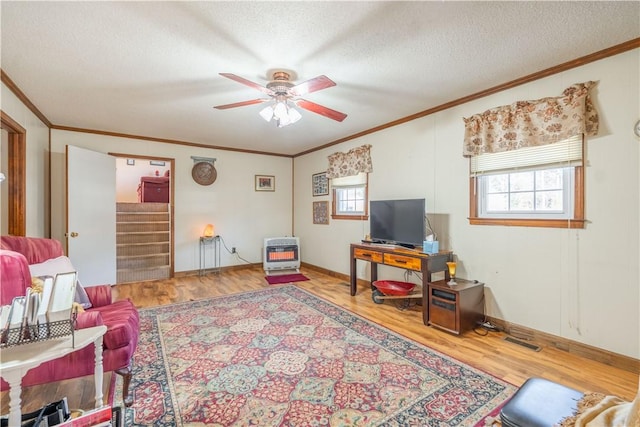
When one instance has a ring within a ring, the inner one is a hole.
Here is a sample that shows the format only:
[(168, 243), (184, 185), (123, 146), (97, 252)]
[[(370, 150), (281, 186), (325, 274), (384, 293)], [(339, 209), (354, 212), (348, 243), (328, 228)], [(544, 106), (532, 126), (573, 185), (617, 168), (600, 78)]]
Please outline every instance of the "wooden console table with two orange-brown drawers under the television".
[(429, 324), (428, 285), (431, 273), (444, 271), (445, 280), (449, 280), (447, 261), (451, 260), (451, 252), (439, 252), (428, 255), (419, 250), (402, 249), (393, 245), (378, 245), (375, 243), (352, 243), (351, 250), (351, 295), (356, 294), (356, 262), (360, 259), (371, 263), (371, 283), (378, 280), (378, 264), (422, 273), (422, 321)]

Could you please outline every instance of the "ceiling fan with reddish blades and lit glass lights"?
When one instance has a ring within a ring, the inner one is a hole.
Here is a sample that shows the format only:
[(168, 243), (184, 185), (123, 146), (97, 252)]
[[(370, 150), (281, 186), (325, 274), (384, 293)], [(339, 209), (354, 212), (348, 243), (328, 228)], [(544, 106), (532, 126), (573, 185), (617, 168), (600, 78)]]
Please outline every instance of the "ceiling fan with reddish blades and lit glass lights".
[(300, 108), (304, 108), (305, 110), (320, 114), (338, 122), (343, 121), (347, 117), (347, 115), (344, 113), (300, 98), (301, 96), (304, 96), (308, 93), (335, 86), (335, 82), (333, 82), (327, 76), (318, 76), (296, 85), (289, 80), (291, 77), (289, 73), (285, 71), (276, 71), (275, 73), (273, 73), (273, 80), (267, 83), (266, 86), (262, 86), (258, 83), (254, 83), (235, 74), (220, 73), (220, 75), (228, 79), (235, 80), (238, 83), (242, 83), (243, 85), (257, 89), (260, 92), (269, 95), (270, 98), (251, 99), (248, 101), (218, 105), (214, 107), (218, 110), (226, 110), (228, 108), (243, 107), (245, 105), (260, 104), (263, 102), (273, 101), (272, 104), (260, 111), (260, 115), (266, 121), (271, 121), (272, 119), (274, 119), (278, 127), (283, 127), (295, 123), (302, 117), (297, 110), (291, 107), (290, 104), (293, 104)]

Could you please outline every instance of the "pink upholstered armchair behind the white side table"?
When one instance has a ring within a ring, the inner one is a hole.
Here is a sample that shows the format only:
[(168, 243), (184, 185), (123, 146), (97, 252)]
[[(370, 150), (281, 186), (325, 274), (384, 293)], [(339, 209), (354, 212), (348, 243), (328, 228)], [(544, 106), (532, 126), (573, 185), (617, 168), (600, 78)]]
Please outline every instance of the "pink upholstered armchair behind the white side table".
[[(0, 237), (0, 304), (11, 304), (14, 297), (25, 295), (26, 288), (31, 286), (30, 266), (33, 268), (63, 256), (62, 245), (57, 240)], [(109, 285), (84, 289), (91, 307), (78, 314), (77, 328), (107, 326), (103, 337), (104, 371), (115, 371), (123, 376), (124, 404), (130, 406), (133, 403), (129, 395), (131, 359), (140, 333), (138, 310), (129, 299), (112, 301)], [(93, 375), (93, 369), (94, 351), (93, 346), (89, 346), (31, 369), (22, 379), (22, 386)], [(2, 380), (2, 390), (8, 387)]]

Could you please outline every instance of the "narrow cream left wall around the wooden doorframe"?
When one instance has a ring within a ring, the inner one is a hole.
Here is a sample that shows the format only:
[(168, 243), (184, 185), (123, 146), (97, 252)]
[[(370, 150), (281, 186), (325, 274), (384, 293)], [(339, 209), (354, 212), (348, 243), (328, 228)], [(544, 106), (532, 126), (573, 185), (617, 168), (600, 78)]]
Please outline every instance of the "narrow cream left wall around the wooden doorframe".
[[(27, 236), (49, 235), (49, 128), (2, 83), (0, 108), (27, 131)], [(4, 172), (8, 175), (7, 172)], [(10, 178), (8, 178), (10, 179)], [(6, 185), (7, 181), (5, 181)], [(6, 210), (0, 211), (6, 215)]]

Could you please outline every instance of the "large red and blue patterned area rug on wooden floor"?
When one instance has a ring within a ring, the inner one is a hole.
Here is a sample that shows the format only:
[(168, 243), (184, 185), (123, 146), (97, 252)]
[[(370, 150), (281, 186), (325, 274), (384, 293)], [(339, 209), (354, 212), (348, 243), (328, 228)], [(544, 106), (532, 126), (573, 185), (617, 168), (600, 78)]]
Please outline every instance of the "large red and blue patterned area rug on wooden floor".
[(127, 426), (473, 426), (515, 392), (292, 285), (140, 315)]

